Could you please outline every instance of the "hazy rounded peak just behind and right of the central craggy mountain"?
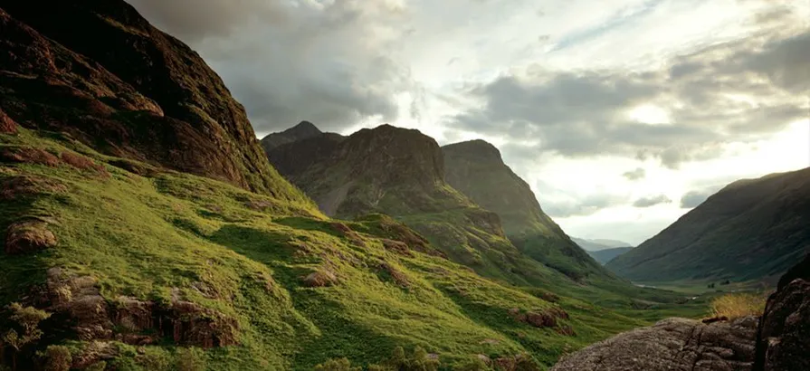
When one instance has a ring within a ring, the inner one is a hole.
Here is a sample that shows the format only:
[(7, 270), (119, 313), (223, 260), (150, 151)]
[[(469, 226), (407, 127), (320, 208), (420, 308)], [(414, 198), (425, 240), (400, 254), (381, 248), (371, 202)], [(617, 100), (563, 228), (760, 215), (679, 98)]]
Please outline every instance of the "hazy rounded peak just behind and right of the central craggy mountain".
[(520, 251), (575, 279), (613, 277), (543, 213), (529, 185), (503, 163), (498, 148), (472, 140), (442, 147), (442, 152), (447, 183), (498, 214)]

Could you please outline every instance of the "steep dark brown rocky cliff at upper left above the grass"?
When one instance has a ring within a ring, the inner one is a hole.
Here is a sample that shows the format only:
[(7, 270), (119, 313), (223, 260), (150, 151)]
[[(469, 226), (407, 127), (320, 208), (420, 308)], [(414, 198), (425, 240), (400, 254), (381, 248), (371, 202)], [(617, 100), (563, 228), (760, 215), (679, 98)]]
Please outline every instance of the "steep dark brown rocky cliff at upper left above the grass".
[(122, 0), (0, 6), (4, 131), (15, 121), (67, 132), (113, 156), (300, 198), (268, 165), (223, 81), (132, 6)]

